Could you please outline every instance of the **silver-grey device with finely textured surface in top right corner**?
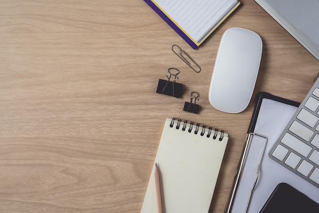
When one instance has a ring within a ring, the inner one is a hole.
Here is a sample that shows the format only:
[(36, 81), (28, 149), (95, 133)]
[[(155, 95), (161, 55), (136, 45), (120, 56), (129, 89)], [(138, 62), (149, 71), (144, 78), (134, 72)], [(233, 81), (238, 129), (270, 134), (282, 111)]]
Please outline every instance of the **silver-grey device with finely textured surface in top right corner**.
[(319, 60), (319, 0), (255, 0)]

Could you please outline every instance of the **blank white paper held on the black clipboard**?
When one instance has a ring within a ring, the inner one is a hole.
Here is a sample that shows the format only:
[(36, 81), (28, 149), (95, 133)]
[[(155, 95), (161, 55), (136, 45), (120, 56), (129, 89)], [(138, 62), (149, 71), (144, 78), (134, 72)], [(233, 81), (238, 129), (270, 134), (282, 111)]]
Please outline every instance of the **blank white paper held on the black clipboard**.
[[(259, 212), (275, 187), (285, 182), (319, 203), (319, 189), (273, 161), (269, 156), (280, 133), (295, 113), (297, 107), (276, 100), (263, 98), (257, 117), (254, 133), (268, 138), (260, 166), (260, 174), (252, 194), (248, 212)], [(245, 168), (238, 185), (232, 213), (245, 212), (249, 194), (254, 184), (258, 159), (262, 151), (264, 139), (254, 136), (247, 156)]]

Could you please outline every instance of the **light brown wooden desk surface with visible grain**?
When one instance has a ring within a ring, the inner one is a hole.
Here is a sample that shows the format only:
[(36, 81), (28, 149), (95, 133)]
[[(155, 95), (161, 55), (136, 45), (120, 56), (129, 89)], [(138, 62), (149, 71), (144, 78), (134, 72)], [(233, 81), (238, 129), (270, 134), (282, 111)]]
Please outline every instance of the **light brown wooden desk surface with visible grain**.
[[(197, 50), (143, 1), (2, 1), (0, 4), (0, 211), (139, 212), (165, 118), (224, 129), (230, 139), (209, 212), (223, 212), (260, 91), (301, 101), (319, 62), (254, 1)], [(263, 40), (249, 107), (212, 108), (208, 88), (231, 27)], [(171, 51), (178, 44), (202, 67)], [(181, 70), (182, 98), (155, 93)], [(198, 115), (182, 111), (200, 94)]]

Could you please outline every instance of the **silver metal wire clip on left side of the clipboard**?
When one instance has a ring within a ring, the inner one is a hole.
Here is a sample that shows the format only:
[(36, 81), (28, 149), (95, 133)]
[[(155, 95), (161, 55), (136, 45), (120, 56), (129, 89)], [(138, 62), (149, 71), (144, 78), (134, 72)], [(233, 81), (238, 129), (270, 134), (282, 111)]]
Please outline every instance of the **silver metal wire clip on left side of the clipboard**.
[(252, 198), (254, 189), (256, 187), (257, 180), (258, 180), (259, 173), (260, 173), (260, 165), (261, 165), (262, 157), (263, 157), (263, 154), (264, 154), (265, 147), (267, 145), (267, 137), (259, 135), (259, 134), (256, 134), (254, 132), (250, 132), (249, 134), (247, 134), (245, 147), (243, 149), (243, 153), (242, 153), (242, 156), (241, 156), (241, 159), (240, 159), (240, 163), (238, 164), (238, 167), (237, 167), (237, 174), (235, 175), (235, 178), (234, 178), (231, 190), (230, 190), (230, 194), (229, 194), (229, 197), (228, 197), (227, 205), (226, 205), (226, 208), (225, 208), (225, 211), (224, 211), (225, 213), (230, 213), (232, 211), (232, 207), (233, 207), (233, 204), (234, 204), (234, 201), (235, 201), (235, 197), (236, 197), (236, 194), (237, 194), (238, 187), (239, 187), (240, 182), (241, 182), (241, 178), (242, 178), (242, 175), (243, 175), (243, 172), (244, 172), (244, 168), (245, 168), (245, 165), (246, 165), (246, 162), (247, 162), (247, 158), (248, 158), (248, 153), (249, 153), (249, 150), (250, 150), (250, 147), (251, 147), (251, 144), (252, 144), (252, 139), (253, 139), (254, 136), (262, 137), (264, 139), (264, 144), (263, 144), (262, 150), (260, 152), (258, 165), (257, 165), (256, 176), (255, 176), (255, 180), (254, 180), (254, 183), (253, 183), (253, 187), (250, 190), (250, 194), (249, 194), (248, 201), (247, 201), (247, 204), (246, 204), (245, 212), (247, 213), (248, 210), (249, 210), (249, 206), (250, 206), (250, 203), (251, 203), (251, 198)]

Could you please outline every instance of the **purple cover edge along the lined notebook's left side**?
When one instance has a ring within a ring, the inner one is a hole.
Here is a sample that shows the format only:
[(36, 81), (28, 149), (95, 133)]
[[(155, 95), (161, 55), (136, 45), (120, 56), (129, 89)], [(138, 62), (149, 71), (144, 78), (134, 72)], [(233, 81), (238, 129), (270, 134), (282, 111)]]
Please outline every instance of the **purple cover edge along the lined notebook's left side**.
[(168, 25), (171, 26), (171, 28), (180, 36), (182, 37), (182, 39), (184, 39), (193, 49), (196, 49), (198, 46), (186, 35), (184, 34), (184, 32), (182, 32), (178, 26), (176, 26), (176, 24), (171, 21), (171, 19), (169, 19), (169, 17), (167, 17), (161, 9), (159, 9), (151, 0), (144, 0), (144, 2), (146, 4), (148, 4), (148, 6), (150, 8), (152, 8), (161, 18), (163, 18), (164, 21), (166, 21), (166, 23), (168, 23)]

